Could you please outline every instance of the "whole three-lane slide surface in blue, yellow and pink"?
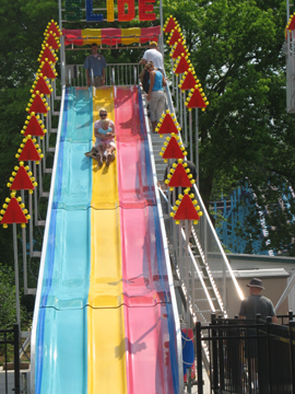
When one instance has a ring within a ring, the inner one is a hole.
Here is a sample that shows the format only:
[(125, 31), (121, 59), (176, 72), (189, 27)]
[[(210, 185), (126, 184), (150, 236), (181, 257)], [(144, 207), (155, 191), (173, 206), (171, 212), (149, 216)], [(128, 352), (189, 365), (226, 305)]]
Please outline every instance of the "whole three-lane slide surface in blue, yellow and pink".
[[(116, 124), (109, 167), (84, 157), (101, 107)], [(33, 322), (35, 393), (179, 393), (178, 317), (141, 93), (67, 88), (62, 117)]]

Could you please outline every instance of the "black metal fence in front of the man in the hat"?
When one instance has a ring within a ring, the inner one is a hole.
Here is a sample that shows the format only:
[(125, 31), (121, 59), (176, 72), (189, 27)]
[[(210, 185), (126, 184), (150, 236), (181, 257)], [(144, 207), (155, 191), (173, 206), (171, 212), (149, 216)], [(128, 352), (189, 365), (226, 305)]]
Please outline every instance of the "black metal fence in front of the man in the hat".
[[(285, 325), (216, 318), (197, 323), (198, 393), (202, 386), (202, 341), (210, 362), (211, 393), (295, 394), (295, 321)], [(283, 317), (283, 316), (281, 316)]]

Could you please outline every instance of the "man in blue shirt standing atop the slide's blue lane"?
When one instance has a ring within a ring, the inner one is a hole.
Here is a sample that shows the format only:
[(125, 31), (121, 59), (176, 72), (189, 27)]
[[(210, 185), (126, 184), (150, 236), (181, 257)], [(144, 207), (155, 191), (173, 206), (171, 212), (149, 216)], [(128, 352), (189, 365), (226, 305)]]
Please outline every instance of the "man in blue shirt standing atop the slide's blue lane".
[(97, 44), (93, 43), (91, 45), (92, 54), (86, 57), (84, 62), (84, 69), (86, 70), (87, 85), (91, 85), (91, 70), (93, 70), (94, 76), (94, 86), (98, 88), (105, 84), (105, 68), (106, 59), (103, 55), (97, 51)]

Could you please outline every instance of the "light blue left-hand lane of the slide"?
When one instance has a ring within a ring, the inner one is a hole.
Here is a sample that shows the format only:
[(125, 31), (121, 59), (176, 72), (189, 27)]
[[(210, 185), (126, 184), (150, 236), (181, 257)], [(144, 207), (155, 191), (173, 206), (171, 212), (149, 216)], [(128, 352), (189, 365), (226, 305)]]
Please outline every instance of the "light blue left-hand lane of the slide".
[[(93, 104), (67, 89), (37, 328), (36, 393), (87, 392)], [(67, 385), (67, 386), (66, 386)]]

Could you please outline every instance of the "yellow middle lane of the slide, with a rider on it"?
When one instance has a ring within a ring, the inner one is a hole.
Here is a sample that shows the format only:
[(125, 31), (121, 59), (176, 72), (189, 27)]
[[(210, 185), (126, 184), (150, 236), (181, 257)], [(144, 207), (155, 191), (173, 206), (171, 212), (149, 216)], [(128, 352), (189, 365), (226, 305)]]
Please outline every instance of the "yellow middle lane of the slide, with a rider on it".
[[(104, 107), (115, 120), (113, 88), (97, 89), (94, 121)], [(127, 393), (117, 163), (93, 161), (87, 393)]]

